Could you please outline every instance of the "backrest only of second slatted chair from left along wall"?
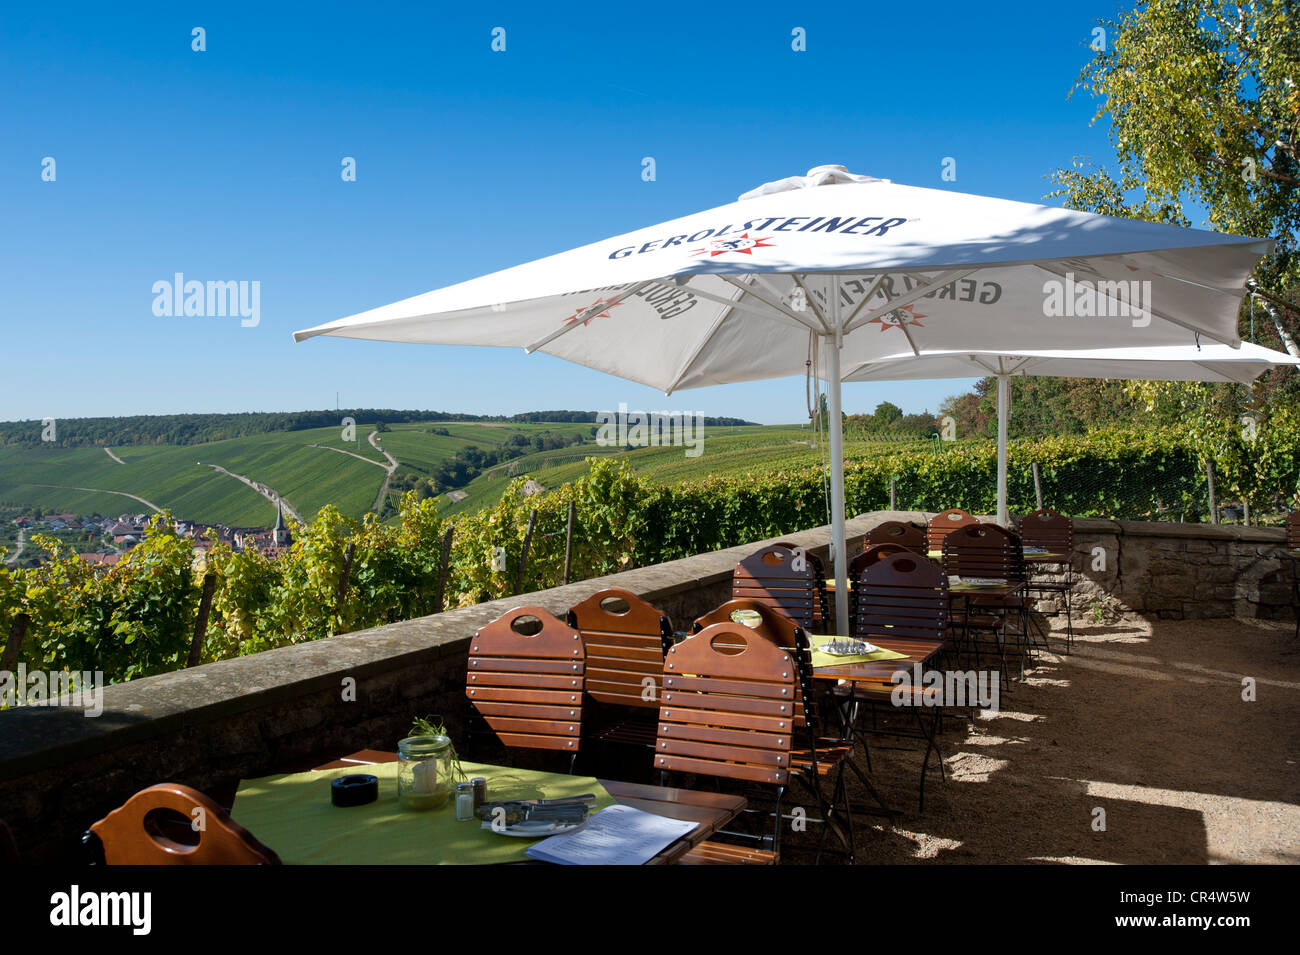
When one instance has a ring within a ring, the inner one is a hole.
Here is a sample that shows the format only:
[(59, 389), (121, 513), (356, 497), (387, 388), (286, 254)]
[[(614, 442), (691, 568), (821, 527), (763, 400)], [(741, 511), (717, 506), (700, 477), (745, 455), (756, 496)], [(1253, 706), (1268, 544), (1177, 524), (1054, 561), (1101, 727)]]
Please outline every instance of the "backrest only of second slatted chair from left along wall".
[(629, 590), (608, 587), (569, 608), (568, 625), (582, 634), (584, 685), (592, 699), (659, 708), (663, 657), (672, 622)]

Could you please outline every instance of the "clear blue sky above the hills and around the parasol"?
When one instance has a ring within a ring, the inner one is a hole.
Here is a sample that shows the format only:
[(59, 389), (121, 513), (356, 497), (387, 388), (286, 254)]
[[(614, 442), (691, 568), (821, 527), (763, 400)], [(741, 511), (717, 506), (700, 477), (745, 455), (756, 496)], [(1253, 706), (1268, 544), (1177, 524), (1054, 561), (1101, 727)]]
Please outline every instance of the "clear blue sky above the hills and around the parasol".
[[(0, 420), (335, 392), (493, 414), (660, 407), (549, 356), (290, 333), (827, 162), (1024, 201), (1076, 155), (1110, 164), (1092, 103), (1067, 94), (1114, 4), (441, 6), (5, 5)], [(155, 316), (153, 283), (177, 272), (260, 282), (260, 324)], [(845, 409), (936, 411), (970, 383), (850, 385)], [(670, 400), (806, 418), (801, 378)]]

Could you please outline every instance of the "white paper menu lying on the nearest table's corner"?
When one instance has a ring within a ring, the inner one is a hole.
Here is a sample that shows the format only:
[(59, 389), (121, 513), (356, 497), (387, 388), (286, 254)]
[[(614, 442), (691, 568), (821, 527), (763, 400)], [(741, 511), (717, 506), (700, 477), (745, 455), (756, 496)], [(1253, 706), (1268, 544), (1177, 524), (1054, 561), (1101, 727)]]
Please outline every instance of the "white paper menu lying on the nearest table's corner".
[(529, 846), (528, 855), (558, 865), (645, 865), (697, 825), (630, 806), (610, 806), (577, 832)]

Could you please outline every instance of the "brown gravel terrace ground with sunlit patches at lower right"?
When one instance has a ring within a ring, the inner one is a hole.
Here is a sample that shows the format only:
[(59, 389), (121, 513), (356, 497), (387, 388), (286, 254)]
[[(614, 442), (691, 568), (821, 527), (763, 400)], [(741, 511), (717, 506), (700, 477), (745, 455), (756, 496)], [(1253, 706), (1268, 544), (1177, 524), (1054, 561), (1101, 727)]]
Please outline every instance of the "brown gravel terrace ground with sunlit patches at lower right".
[(924, 813), (919, 746), (871, 739), (871, 778), (905, 815), (859, 828), (858, 861), (1300, 861), (1294, 634), (1235, 618), (1078, 628), (1074, 652), (1041, 655), (996, 716), (945, 721), (948, 780), (931, 764)]

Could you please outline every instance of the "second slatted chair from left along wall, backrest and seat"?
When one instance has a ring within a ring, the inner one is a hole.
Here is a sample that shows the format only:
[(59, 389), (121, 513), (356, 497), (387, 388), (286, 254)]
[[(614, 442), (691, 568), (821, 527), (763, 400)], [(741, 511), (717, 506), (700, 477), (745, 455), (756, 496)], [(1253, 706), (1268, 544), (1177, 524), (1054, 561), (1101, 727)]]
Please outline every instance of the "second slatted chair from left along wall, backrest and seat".
[[(571, 607), (566, 620), (582, 634), (586, 651), (584, 689), (588, 702), (595, 700), (586, 713), (589, 737), (653, 747), (672, 622), (632, 591), (618, 587), (592, 594)], [(627, 716), (629, 708), (641, 719)]]

